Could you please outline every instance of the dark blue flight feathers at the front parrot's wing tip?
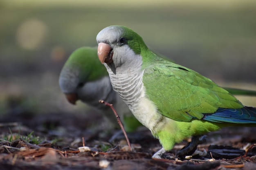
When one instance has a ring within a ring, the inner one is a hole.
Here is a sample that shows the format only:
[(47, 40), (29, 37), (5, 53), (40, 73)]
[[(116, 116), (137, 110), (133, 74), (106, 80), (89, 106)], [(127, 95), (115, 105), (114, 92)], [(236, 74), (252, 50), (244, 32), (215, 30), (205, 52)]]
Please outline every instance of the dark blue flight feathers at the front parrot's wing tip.
[(256, 108), (218, 108), (213, 114), (205, 114), (204, 120), (213, 122), (227, 122), (235, 124), (256, 124)]

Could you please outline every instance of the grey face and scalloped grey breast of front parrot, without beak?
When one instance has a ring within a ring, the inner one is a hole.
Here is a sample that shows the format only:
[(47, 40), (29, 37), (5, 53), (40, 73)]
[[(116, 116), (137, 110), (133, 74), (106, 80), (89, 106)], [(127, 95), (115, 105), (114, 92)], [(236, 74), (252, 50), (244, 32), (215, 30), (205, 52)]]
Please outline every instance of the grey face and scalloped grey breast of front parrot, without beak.
[[(99, 32), (97, 42), (108, 44), (112, 48), (112, 62), (104, 63), (104, 65), (109, 73), (113, 89), (133, 110), (133, 104), (141, 97), (143, 88), (142, 57), (130, 48), (129, 40), (123, 37), (125, 35), (123, 31), (125, 29), (122, 27), (109, 26)], [(124, 43), (120, 43), (121, 38), (125, 38)]]

